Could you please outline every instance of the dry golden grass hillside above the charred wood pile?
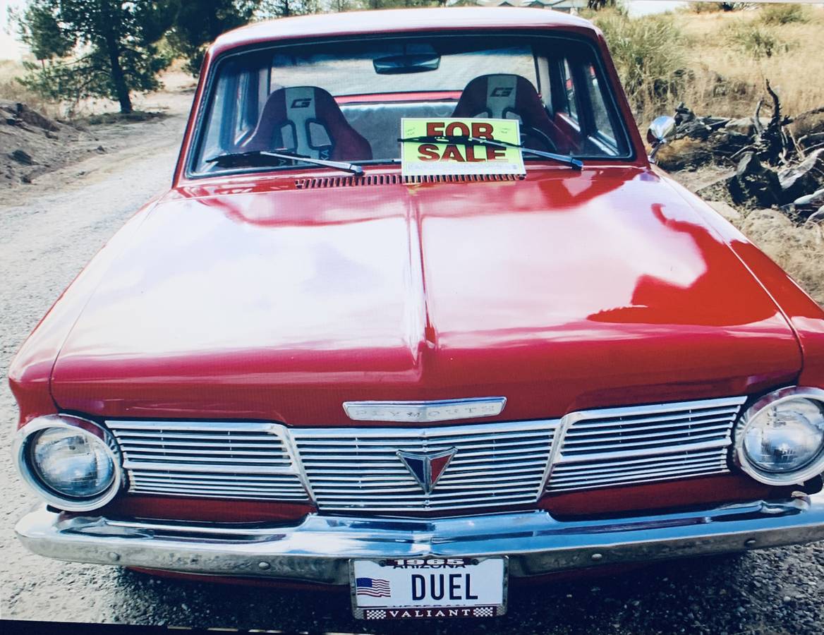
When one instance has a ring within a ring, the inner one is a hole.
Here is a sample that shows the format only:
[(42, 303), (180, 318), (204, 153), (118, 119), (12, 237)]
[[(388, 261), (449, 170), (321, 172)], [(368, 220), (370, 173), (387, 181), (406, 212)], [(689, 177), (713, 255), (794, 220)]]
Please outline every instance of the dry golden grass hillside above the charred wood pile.
[[(824, 8), (783, 7), (688, 10), (634, 20), (616, 12), (591, 17), (605, 32), (636, 119), (644, 127), (658, 114), (672, 113), (681, 101), (698, 114), (751, 116), (765, 97), (766, 79), (779, 93), (786, 114), (824, 105)], [(657, 45), (653, 34), (662, 24), (674, 36)], [(638, 58), (658, 72), (641, 86), (633, 70)]]

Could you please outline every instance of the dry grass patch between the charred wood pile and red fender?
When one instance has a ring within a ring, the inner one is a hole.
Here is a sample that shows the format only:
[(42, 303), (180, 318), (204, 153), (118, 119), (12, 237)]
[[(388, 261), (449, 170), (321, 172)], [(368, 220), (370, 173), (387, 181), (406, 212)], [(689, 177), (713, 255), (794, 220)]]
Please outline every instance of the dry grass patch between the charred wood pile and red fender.
[(748, 212), (733, 223), (824, 306), (824, 225), (798, 226), (774, 209)]

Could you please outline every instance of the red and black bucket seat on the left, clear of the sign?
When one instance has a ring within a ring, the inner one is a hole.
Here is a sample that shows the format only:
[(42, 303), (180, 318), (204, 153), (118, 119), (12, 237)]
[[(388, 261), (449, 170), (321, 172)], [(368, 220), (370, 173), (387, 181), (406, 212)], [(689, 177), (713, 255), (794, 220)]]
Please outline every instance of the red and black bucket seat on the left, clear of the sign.
[(372, 158), (369, 142), (349, 125), (335, 98), (316, 86), (280, 88), (269, 95), (242, 149), (285, 150), (315, 159)]

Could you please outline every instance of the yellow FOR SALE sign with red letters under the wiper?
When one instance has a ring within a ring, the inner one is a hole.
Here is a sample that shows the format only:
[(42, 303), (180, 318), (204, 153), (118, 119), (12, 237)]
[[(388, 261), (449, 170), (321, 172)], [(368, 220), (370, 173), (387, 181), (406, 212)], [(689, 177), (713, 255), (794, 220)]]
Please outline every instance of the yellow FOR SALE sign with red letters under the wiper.
[[(404, 176), (524, 174), (517, 119), (401, 119)], [(487, 144), (486, 142), (490, 142)]]

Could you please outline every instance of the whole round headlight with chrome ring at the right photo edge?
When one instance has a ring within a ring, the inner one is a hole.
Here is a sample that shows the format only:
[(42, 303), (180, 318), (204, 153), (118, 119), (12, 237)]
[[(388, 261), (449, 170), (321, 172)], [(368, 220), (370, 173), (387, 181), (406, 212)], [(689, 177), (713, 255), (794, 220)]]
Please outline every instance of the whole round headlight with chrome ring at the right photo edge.
[(784, 388), (759, 399), (736, 429), (736, 458), (753, 479), (803, 483), (824, 471), (824, 390)]

